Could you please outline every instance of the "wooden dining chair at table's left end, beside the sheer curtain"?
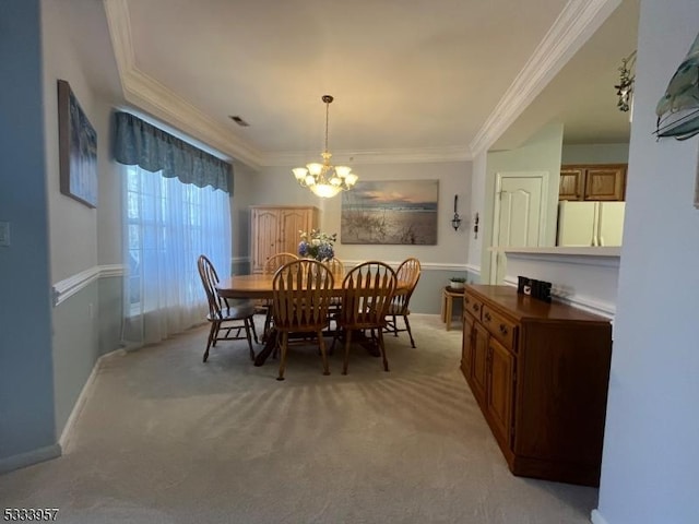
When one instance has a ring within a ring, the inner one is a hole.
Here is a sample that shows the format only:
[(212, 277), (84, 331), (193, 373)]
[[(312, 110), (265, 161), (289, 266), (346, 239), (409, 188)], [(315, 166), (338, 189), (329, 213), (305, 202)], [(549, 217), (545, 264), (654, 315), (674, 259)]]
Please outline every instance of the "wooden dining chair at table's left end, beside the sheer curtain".
[(218, 275), (211, 261), (205, 255), (200, 255), (197, 261), (199, 276), (206, 293), (209, 301), (209, 314), (206, 320), (211, 323), (209, 331), (209, 340), (206, 341), (206, 350), (204, 352), (204, 362), (209, 359), (209, 350), (211, 346), (216, 346), (217, 341), (248, 341), (250, 349), (250, 359), (254, 359), (254, 350), (252, 349), (252, 336), (257, 342), (257, 333), (254, 332), (254, 305), (249, 301), (239, 301), (235, 306), (230, 306), (228, 300), (221, 297), (216, 291), (218, 284)]

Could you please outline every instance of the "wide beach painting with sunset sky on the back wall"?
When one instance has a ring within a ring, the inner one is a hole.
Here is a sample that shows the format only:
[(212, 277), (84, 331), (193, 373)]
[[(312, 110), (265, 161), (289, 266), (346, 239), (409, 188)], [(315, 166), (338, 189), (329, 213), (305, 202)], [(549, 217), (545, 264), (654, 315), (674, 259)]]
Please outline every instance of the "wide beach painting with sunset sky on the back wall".
[(439, 180), (358, 181), (342, 193), (342, 243), (437, 243)]

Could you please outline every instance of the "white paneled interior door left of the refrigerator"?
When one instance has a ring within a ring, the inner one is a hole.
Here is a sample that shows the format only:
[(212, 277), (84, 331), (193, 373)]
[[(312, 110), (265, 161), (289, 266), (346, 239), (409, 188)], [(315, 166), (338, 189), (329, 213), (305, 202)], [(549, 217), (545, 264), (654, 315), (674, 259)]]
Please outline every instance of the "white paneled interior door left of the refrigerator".
[[(546, 218), (548, 172), (498, 172), (495, 181), (493, 247), (542, 245)], [(506, 259), (495, 249), (490, 259), (490, 283), (501, 284)]]

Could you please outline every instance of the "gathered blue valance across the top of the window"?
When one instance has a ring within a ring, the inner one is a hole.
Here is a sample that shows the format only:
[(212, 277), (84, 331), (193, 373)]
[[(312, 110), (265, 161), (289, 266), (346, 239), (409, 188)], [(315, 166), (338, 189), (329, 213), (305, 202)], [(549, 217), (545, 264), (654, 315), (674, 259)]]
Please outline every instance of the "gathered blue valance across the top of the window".
[(230, 192), (233, 167), (183, 140), (123, 111), (115, 115), (115, 159), (199, 188)]

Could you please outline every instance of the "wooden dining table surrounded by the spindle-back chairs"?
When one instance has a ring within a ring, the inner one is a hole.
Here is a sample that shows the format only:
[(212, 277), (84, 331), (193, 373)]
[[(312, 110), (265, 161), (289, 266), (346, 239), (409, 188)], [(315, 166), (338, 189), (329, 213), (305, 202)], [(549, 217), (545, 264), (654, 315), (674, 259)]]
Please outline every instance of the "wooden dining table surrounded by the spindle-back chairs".
[[(216, 291), (223, 298), (229, 299), (258, 299), (258, 300), (272, 300), (273, 289), (272, 282), (274, 275), (254, 273), (251, 275), (233, 275), (222, 278), (216, 285)], [(408, 290), (410, 283), (399, 281), (395, 287), (395, 294), (406, 293)], [(342, 297), (342, 278), (335, 278), (333, 281), (332, 295), (335, 297)], [(353, 336), (354, 340), (354, 336)], [(364, 347), (367, 348), (370, 355), (380, 356), (380, 353), (375, 344), (370, 342), (368, 337), (359, 337), (357, 340)], [(268, 357), (274, 352), (276, 345), (276, 333), (272, 327), (272, 333), (265, 337), (264, 347), (254, 357), (254, 366), (263, 366)]]

